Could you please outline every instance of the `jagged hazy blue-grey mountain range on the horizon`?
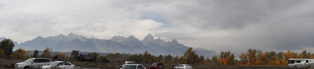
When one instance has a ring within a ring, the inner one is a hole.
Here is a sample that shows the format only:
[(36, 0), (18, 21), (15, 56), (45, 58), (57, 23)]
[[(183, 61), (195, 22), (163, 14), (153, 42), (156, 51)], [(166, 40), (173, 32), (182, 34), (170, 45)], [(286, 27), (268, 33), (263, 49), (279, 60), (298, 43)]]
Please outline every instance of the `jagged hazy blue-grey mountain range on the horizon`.
[[(0, 40), (6, 38), (0, 37)], [(12, 40), (12, 39), (11, 39)], [(13, 41), (13, 40), (12, 40)], [(160, 38), (154, 39), (151, 34), (148, 34), (143, 40), (138, 40), (134, 36), (123, 37), (113, 36), (109, 40), (87, 38), (82, 35), (76, 35), (73, 33), (49, 37), (38, 36), (33, 40), (25, 41), (24, 43), (18, 44), (14, 41), (15, 47), (13, 50), (19, 48), (25, 50), (45, 50), (46, 47), (52, 50), (58, 50), (60, 52), (80, 50), (88, 52), (111, 52), (111, 53), (143, 53), (148, 51), (152, 55), (168, 55), (182, 56), (184, 52), (189, 48), (183, 44), (179, 44), (176, 39), (172, 41), (164, 41)], [(198, 55), (203, 56), (215, 56), (217, 53), (213, 50), (206, 50), (203, 48), (193, 48)]]

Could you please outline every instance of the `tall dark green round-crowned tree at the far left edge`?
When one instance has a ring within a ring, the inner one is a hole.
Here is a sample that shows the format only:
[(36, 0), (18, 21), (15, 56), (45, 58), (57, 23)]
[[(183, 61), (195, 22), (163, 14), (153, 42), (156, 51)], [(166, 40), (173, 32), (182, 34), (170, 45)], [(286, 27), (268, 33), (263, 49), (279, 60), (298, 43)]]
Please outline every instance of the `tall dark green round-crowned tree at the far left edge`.
[(13, 47), (15, 45), (13, 44), (12, 40), (10, 39), (4, 39), (0, 42), (0, 49), (3, 50), (4, 56), (9, 57), (13, 54)]

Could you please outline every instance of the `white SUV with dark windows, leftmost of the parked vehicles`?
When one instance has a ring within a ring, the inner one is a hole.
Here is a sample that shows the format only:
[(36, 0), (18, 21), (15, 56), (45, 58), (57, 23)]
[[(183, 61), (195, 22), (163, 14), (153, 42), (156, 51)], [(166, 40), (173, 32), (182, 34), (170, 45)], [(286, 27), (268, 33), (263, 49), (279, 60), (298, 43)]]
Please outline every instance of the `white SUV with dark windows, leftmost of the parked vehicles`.
[(19, 62), (15, 64), (15, 69), (30, 69), (30, 66), (38, 69), (41, 66), (51, 63), (48, 58), (30, 58), (24, 62)]

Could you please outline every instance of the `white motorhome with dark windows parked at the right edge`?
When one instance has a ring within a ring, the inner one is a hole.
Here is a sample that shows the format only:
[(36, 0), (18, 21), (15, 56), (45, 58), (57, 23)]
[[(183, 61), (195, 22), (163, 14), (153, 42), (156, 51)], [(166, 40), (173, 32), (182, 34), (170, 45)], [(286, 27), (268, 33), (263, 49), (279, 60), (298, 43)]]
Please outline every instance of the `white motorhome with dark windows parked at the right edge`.
[(310, 68), (314, 67), (314, 59), (289, 59), (289, 68)]

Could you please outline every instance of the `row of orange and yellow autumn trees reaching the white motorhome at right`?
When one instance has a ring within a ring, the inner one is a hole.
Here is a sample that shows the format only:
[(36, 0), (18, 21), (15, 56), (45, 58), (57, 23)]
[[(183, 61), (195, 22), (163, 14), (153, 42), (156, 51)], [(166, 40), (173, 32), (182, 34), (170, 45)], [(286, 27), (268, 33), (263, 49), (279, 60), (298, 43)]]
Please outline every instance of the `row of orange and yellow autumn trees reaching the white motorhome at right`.
[[(218, 58), (217, 56), (212, 57), (214, 59), (218, 59), (217, 65), (222, 66), (259, 66), (259, 65), (266, 65), (266, 66), (287, 66), (288, 59), (295, 58), (295, 59), (314, 59), (314, 54), (310, 52), (306, 52), (306, 50), (302, 51), (302, 53), (291, 52), (288, 50), (287, 52), (278, 52), (270, 51), (270, 52), (263, 52), (262, 50), (258, 49), (248, 49), (246, 53), (241, 53), (239, 56), (240, 60), (235, 60), (236, 57), (234, 54), (231, 54), (230, 51), (221, 51)], [(212, 61), (210, 59), (206, 59), (205, 61)]]

